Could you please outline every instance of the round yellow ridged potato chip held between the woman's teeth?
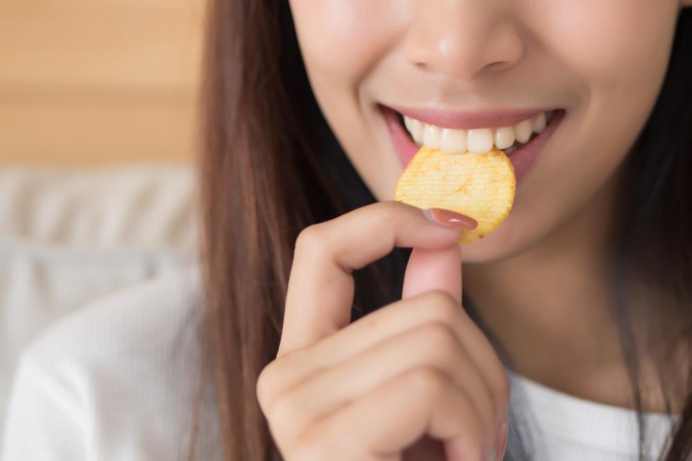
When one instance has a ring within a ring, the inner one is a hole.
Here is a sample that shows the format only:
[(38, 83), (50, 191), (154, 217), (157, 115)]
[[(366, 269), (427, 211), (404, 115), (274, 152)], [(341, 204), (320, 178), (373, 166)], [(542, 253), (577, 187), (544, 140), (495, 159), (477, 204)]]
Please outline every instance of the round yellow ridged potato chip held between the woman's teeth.
[(471, 216), (478, 227), (459, 238), (459, 243), (468, 243), (483, 238), (507, 218), (515, 191), (514, 167), (500, 149), (446, 153), (424, 146), (401, 174), (394, 200)]

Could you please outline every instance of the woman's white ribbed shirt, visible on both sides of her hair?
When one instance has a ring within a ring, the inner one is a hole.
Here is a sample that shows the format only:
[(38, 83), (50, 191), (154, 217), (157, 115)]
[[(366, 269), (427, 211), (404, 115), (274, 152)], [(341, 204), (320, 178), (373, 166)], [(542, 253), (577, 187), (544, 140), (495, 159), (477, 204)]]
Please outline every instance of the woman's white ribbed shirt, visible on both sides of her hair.
[[(199, 279), (191, 269), (140, 284), (71, 314), (34, 341), (12, 386), (2, 460), (186, 459), (200, 379)], [(509, 373), (512, 402), (525, 396), (535, 418), (527, 420), (532, 460), (637, 459), (634, 411)], [(211, 395), (201, 408), (197, 460), (221, 459)], [(653, 433), (645, 453), (653, 460), (671, 422), (659, 414), (646, 422)]]

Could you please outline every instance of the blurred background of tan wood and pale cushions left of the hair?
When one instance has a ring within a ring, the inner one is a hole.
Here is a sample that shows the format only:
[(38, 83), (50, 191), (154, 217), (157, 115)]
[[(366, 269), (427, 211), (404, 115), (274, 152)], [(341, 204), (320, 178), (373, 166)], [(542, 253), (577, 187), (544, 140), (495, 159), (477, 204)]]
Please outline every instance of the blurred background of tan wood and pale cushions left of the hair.
[(203, 0), (0, 0), (0, 433), (22, 348), (194, 261)]

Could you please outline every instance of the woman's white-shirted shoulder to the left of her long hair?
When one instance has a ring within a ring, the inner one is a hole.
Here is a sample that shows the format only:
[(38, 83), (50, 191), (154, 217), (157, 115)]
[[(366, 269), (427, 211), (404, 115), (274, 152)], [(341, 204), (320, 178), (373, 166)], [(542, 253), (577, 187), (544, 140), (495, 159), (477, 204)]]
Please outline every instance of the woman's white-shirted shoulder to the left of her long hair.
[(202, 311), (199, 270), (190, 267), (55, 323), (21, 355), (3, 459), (68, 445), (80, 453), (65, 459), (183, 459), (197, 408), (198, 459), (215, 459), (213, 404), (201, 386)]

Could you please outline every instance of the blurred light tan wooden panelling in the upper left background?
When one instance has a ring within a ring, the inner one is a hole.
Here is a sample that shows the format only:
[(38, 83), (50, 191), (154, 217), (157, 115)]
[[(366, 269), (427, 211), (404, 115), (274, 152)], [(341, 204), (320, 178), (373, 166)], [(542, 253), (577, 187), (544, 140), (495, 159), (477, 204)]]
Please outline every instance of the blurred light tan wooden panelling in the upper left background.
[(189, 160), (201, 0), (0, 0), (0, 162)]

